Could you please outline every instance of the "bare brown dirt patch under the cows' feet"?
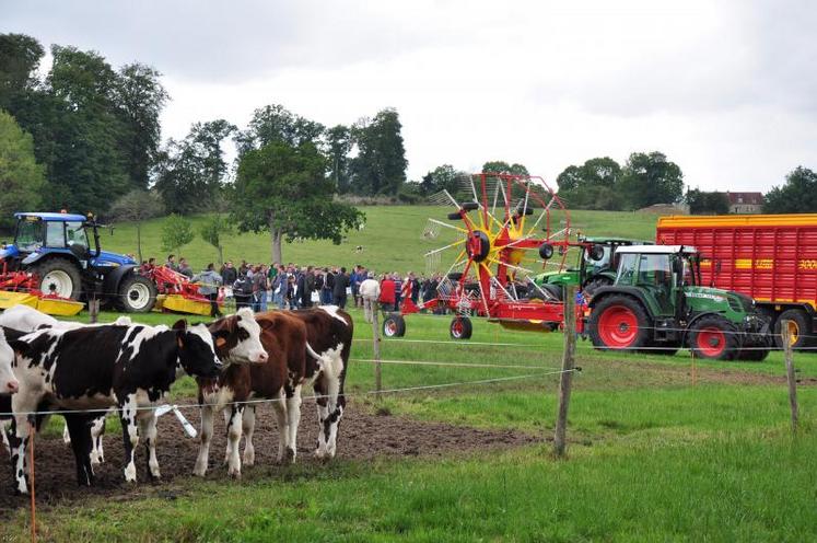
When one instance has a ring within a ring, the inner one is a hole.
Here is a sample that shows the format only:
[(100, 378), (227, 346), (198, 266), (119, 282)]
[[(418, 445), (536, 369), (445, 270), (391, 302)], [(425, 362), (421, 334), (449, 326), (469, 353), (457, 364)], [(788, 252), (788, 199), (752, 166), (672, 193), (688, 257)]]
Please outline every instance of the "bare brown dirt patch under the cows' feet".
[[(183, 402), (179, 402), (183, 403)], [(340, 425), (338, 459), (371, 460), (376, 457), (417, 457), (467, 453), (477, 450), (505, 449), (534, 443), (540, 438), (512, 430), (481, 430), (439, 423), (416, 421), (394, 416), (370, 415), (353, 403), (347, 406)], [(256, 451), (256, 465), (243, 470), (243, 478), (253, 481), (275, 476), (270, 470), (278, 454), (278, 429), (269, 406), (258, 407), (256, 432), (253, 439)], [(185, 416), (198, 426), (197, 409), (185, 409)], [(57, 417), (60, 418), (60, 417)], [(317, 441), (317, 415), (314, 402), (304, 401), (301, 427), (297, 435), (297, 463), (317, 464), (313, 451)], [(215, 418), (215, 437), (210, 448), (209, 480), (223, 480), (232, 484), (222, 465), (226, 438), (222, 417)], [(198, 441), (187, 438), (173, 415), (159, 420), (159, 463), (162, 482), (148, 480), (147, 454), (139, 447), (137, 467), (139, 483), (128, 485), (122, 475), (124, 451), (121, 435), (108, 432), (105, 436), (106, 462), (96, 469), (96, 485), (83, 488), (77, 485), (73, 453), (70, 446), (58, 437), (37, 436), (35, 442), (36, 498), (39, 506), (75, 504), (93, 496), (114, 500), (130, 500), (145, 496), (173, 499), (184, 494), (184, 480), (190, 477)], [(242, 449), (243, 452), (243, 449)], [(8, 455), (0, 464), (0, 517), (16, 508), (27, 507), (28, 498), (13, 496), (12, 470)], [(319, 466), (316, 465), (316, 469)], [(278, 469), (283, 472), (285, 467)]]

